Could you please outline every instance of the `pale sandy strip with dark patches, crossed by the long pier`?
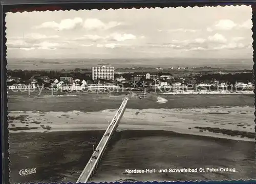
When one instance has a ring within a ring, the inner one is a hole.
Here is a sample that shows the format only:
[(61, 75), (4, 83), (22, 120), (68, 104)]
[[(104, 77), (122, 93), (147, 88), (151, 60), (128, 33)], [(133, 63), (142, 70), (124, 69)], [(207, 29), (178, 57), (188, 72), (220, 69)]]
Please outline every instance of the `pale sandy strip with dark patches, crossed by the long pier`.
[[(10, 133), (104, 130), (116, 110), (99, 112), (23, 112), (9, 113)], [(192, 134), (254, 141), (252, 138), (200, 131), (211, 127), (254, 133), (254, 108), (211, 107), (207, 109), (126, 109), (118, 130), (169, 130)], [(20, 129), (25, 127), (27, 129)], [(196, 128), (195, 128), (196, 127)], [(29, 129), (31, 128), (31, 129)]]

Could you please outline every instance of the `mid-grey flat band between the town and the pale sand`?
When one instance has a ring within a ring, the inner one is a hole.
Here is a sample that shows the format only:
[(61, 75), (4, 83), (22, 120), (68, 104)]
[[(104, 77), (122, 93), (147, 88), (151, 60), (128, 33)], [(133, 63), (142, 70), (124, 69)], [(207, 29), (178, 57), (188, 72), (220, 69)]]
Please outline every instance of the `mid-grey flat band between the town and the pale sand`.
[[(9, 111), (82, 111), (94, 112), (104, 109), (116, 109), (121, 104), (124, 94), (88, 94), (88, 93), (54, 93), (44, 90), (39, 92), (12, 92), (8, 93)], [(157, 103), (161, 97), (168, 101)], [(161, 108), (208, 108), (208, 107), (254, 107), (254, 94), (232, 95), (156, 95), (147, 94), (145, 98), (132, 97), (127, 104), (128, 109), (161, 109)], [(28, 106), (29, 104), (29, 106)]]

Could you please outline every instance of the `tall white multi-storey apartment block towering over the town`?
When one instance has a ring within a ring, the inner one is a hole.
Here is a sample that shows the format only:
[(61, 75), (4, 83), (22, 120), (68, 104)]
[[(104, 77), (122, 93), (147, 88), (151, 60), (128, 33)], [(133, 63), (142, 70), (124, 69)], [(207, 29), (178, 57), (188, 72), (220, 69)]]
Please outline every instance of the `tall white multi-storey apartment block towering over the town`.
[(115, 68), (110, 66), (92, 67), (92, 80), (97, 78), (114, 80)]

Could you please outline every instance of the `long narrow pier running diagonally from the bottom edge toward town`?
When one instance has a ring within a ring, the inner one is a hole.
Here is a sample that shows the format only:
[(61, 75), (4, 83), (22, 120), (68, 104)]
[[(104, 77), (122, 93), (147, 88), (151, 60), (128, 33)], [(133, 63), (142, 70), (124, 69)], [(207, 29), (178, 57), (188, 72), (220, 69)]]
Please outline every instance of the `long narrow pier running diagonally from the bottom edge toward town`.
[(99, 162), (100, 162), (106, 148), (108, 147), (108, 144), (109, 144), (112, 136), (116, 132), (116, 129), (117, 129), (119, 122), (120, 122), (120, 120), (123, 116), (123, 113), (125, 111), (128, 100), (129, 100), (128, 96), (125, 96), (122, 99), (121, 106), (117, 110), (117, 112), (116, 112), (114, 118), (112, 119), (112, 121), (110, 122), (108, 128), (106, 128), (104, 135), (102, 136), (98, 146), (94, 150), (89, 162), (87, 163), (86, 167), (83, 169), (83, 171), (82, 171), (81, 175), (79, 176), (79, 178), (77, 179), (76, 183), (88, 182), (90, 180), (90, 178), (92, 177), (92, 175), (94, 174), (94, 172), (96, 171), (96, 169), (99, 165)]

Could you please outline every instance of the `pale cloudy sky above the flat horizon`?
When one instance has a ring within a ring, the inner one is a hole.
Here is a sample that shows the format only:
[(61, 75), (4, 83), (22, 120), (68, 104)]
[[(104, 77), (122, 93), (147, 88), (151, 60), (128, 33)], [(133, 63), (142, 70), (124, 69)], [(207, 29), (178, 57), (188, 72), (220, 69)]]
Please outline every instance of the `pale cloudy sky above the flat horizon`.
[(7, 58), (252, 58), (251, 7), (7, 13)]

